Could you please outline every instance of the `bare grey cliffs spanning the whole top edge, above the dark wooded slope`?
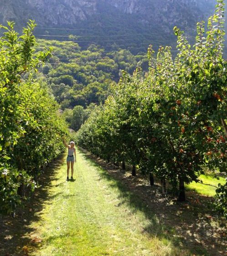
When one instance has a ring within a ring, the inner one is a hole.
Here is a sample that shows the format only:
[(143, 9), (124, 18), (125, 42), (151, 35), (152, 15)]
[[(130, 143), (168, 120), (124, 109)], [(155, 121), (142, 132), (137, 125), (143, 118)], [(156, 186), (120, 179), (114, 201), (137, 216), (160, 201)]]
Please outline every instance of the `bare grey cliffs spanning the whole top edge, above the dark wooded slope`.
[[(211, 14), (215, 0), (0, 0), (0, 22), (28, 18), (40, 25), (76, 25), (110, 9), (139, 16), (144, 23), (190, 25)], [(100, 5), (101, 4), (101, 5)], [(101, 8), (106, 5), (106, 10)]]

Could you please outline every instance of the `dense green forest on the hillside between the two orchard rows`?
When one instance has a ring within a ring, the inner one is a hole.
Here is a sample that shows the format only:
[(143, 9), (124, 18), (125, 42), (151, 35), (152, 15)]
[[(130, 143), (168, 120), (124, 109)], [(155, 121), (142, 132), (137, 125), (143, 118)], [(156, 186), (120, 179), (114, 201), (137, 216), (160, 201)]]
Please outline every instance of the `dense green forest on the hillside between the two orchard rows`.
[(122, 70), (132, 74), (138, 65), (148, 69), (144, 53), (134, 56), (117, 45), (114, 51), (105, 51), (94, 44), (84, 49), (73, 42), (38, 40), (37, 50), (43, 48), (51, 48), (52, 57), (40, 69), (39, 79), (49, 85), (70, 128), (76, 131), (91, 110), (104, 103)]

